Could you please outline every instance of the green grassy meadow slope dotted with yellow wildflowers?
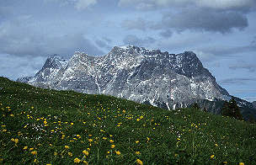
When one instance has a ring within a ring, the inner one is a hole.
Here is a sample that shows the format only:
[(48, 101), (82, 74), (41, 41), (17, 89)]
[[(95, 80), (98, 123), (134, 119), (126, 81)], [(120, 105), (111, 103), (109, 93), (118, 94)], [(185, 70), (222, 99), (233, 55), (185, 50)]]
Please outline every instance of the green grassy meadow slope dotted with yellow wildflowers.
[(168, 111), (0, 77), (0, 163), (256, 164), (255, 138), (256, 125), (200, 110)]

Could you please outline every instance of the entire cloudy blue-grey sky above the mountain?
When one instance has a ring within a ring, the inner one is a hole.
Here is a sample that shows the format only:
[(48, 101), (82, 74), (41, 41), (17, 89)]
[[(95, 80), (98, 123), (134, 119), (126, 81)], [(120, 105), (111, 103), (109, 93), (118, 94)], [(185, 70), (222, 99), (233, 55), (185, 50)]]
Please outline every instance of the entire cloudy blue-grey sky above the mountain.
[(33, 76), (47, 56), (115, 45), (195, 51), (229, 93), (256, 100), (255, 0), (0, 0), (0, 76)]

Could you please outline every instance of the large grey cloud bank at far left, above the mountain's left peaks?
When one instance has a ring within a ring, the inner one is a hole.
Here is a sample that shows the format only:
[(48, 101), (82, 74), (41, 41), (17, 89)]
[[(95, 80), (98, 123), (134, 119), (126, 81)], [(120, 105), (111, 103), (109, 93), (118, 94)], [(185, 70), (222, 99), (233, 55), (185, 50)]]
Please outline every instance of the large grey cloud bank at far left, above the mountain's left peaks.
[(16, 56), (67, 56), (74, 51), (85, 51), (91, 55), (103, 54), (83, 33), (73, 32), (67, 35), (51, 31), (51, 35), (48, 35), (41, 33), (45, 29), (37, 24), (31, 16), (22, 16), (0, 24), (0, 51)]

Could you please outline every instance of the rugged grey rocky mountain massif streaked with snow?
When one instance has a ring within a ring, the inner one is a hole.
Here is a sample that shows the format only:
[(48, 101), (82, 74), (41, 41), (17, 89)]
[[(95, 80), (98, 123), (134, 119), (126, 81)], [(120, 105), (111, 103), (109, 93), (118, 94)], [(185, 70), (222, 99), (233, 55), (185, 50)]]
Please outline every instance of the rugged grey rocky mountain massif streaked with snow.
[(35, 77), (17, 81), (41, 88), (108, 94), (166, 109), (197, 99), (228, 99), (195, 53), (174, 55), (132, 45), (115, 46), (105, 56), (76, 52), (70, 60), (50, 56)]

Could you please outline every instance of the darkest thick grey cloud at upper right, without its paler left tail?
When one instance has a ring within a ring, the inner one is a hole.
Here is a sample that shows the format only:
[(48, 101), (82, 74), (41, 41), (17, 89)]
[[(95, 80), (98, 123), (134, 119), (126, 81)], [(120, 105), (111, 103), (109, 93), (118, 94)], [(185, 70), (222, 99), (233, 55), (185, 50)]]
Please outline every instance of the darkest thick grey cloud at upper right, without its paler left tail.
[(246, 27), (248, 27), (248, 19), (243, 13), (186, 8), (179, 13), (165, 14), (162, 23), (156, 24), (155, 29), (165, 28), (176, 29), (177, 31), (192, 29), (227, 33), (232, 29), (244, 29)]

